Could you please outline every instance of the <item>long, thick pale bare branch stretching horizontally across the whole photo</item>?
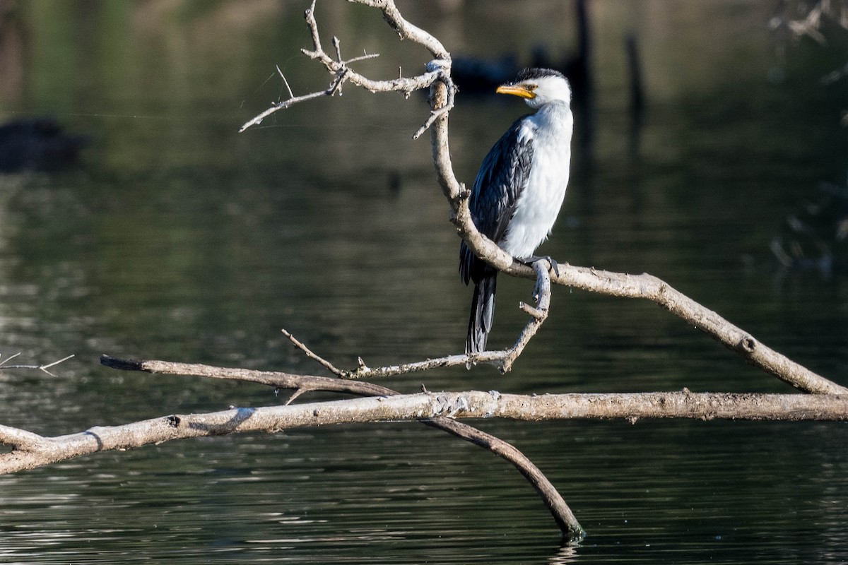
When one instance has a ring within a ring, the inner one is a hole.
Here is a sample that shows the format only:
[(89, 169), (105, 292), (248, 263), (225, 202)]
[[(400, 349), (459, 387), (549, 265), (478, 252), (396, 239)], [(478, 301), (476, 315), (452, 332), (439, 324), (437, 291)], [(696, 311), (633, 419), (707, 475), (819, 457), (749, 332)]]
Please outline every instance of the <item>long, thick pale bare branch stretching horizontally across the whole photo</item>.
[(183, 438), (428, 418), (846, 421), (848, 396), (688, 391), (540, 396), (502, 395), (495, 391), (421, 392), (288, 406), (232, 408), (204, 414), (173, 414), (133, 424), (98, 426), (52, 438), (3, 426), (0, 427), (0, 440), (8, 441), (15, 449), (0, 453), (0, 473), (14, 473), (97, 451), (126, 450)]

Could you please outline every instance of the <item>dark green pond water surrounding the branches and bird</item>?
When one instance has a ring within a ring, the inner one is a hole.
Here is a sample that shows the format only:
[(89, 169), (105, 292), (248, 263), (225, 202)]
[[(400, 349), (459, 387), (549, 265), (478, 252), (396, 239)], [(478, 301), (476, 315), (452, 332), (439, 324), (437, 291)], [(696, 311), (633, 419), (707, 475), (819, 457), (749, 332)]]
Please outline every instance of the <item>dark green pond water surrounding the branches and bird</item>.
[[(848, 384), (845, 274), (782, 271), (769, 251), (780, 221), (823, 182), (845, 188), (845, 81), (819, 79), (848, 51), (835, 29), (825, 47), (776, 42), (774, 4), (591, 4), (594, 151), (576, 147), (566, 208), (542, 249), (656, 274)], [(427, 140), (410, 139), (421, 97), (346, 88), (237, 134), (284, 96), (275, 65), (296, 94), (326, 87), (298, 55), (309, 45), (305, 3), (16, 5), (0, 43), (0, 118), (52, 115), (88, 145), (58, 174), (0, 175), (0, 354), (75, 354), (55, 377), (0, 373), (3, 424), (61, 435), (279, 402), (253, 385), (122, 374), (100, 367), (101, 353), (319, 373), (281, 328), (345, 367), (460, 351), (470, 291)], [(526, 58), (540, 42), (561, 54), (576, 41), (568, 3), (401, 8), (454, 53)], [(326, 42), (338, 35), (349, 56), (381, 53), (363, 72), (391, 77), (427, 61), (365, 8), (322, 1), (319, 17)], [(631, 28), (647, 98), (638, 147), (623, 55)], [(460, 95), (451, 124), (462, 180), (523, 111)], [(493, 346), (514, 338), (514, 305), (530, 291), (501, 281)], [(790, 392), (650, 303), (558, 288), (553, 308), (508, 375), (482, 367), (383, 384)], [(559, 546), (506, 463), (421, 425), (375, 424), (173, 442), (4, 475), (0, 562), (848, 562), (843, 424), (479, 425), (548, 474), (589, 532), (583, 545)]]

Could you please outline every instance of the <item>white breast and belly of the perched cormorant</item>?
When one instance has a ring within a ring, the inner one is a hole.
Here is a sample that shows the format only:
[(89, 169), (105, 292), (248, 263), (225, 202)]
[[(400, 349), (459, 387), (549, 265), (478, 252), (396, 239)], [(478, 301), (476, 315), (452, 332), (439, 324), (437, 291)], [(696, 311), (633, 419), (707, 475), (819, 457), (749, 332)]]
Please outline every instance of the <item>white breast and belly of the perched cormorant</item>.
[(533, 166), (500, 242), (500, 248), (513, 257), (531, 257), (554, 227), (566, 197), (573, 124), (571, 109), (566, 104), (552, 103), (522, 125), (519, 138), (533, 140)]

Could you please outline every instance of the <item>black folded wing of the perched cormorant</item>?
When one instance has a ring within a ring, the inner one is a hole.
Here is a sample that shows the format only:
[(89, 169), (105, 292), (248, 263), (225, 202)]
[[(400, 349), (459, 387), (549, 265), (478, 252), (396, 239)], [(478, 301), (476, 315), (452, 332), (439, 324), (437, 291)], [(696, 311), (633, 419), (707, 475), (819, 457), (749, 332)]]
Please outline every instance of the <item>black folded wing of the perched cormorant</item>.
[[(471, 187), (471, 200), (468, 202), (471, 219), (477, 230), (495, 243), (503, 239), (515, 213), (518, 195), (527, 186), (530, 176), (533, 141), (527, 138), (518, 141), (518, 132), (525, 118), (527, 116), (516, 119), (494, 144), (483, 159)], [(488, 270), (492, 269), (475, 257), (463, 241), (460, 244), (460, 278), (466, 285), (469, 280), (477, 282)]]

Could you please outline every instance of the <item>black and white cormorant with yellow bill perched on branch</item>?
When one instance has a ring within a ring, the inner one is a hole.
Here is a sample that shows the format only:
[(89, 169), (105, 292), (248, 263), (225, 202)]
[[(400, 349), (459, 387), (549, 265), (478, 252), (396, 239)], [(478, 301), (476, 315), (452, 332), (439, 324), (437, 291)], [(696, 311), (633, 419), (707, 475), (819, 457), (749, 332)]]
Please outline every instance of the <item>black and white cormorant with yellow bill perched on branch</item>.
[[(471, 188), (471, 218), (477, 230), (524, 262), (550, 235), (568, 185), (572, 158), (572, 92), (551, 69), (525, 69), (500, 94), (524, 98), (534, 114), (510, 125), (488, 152)], [(477, 258), (463, 241), (460, 277), (474, 282), (466, 353), (486, 350), (494, 319), (498, 271)]]

